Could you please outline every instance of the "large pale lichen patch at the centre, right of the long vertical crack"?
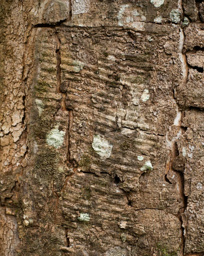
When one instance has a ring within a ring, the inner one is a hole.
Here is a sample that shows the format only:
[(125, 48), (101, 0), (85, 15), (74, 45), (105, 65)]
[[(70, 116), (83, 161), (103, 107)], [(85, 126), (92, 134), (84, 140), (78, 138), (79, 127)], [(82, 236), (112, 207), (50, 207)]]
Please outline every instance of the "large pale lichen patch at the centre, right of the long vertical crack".
[(100, 155), (101, 159), (105, 160), (111, 156), (113, 145), (100, 135), (93, 136), (92, 148)]

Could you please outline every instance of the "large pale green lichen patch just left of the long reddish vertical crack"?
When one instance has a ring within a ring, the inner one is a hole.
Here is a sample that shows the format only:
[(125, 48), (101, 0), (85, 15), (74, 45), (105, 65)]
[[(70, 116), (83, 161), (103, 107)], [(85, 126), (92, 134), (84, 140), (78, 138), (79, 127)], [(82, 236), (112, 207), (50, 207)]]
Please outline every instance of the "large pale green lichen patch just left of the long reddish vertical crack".
[(62, 146), (64, 141), (65, 131), (59, 131), (58, 125), (54, 126), (54, 128), (47, 135), (47, 144), (50, 146), (54, 146), (55, 148), (59, 148)]

